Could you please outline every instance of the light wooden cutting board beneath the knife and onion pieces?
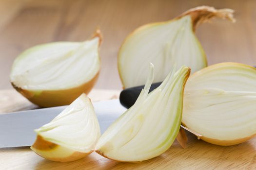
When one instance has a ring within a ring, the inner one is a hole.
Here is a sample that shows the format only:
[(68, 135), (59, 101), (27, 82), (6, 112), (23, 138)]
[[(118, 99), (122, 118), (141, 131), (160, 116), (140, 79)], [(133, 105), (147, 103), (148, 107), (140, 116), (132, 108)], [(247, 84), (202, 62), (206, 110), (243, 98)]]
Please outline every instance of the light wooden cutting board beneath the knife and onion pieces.
[[(118, 90), (93, 90), (92, 101), (118, 98)], [(33, 109), (37, 106), (15, 90), (0, 91), (0, 114)], [(256, 169), (256, 138), (239, 145), (223, 147), (206, 143), (189, 133), (182, 149), (177, 141), (162, 155), (141, 163), (120, 163), (97, 153), (74, 162), (45, 160), (29, 147), (0, 149), (0, 170), (234, 170)]]

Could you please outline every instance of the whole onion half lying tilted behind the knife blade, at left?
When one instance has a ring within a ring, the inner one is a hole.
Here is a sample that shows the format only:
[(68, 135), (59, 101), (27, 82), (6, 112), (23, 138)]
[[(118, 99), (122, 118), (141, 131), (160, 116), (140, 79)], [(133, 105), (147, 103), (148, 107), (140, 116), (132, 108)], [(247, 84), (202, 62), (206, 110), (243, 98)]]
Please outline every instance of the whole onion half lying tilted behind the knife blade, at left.
[(29, 101), (67, 105), (88, 94), (100, 70), (100, 31), (84, 42), (54, 42), (32, 47), (14, 61), (10, 81)]

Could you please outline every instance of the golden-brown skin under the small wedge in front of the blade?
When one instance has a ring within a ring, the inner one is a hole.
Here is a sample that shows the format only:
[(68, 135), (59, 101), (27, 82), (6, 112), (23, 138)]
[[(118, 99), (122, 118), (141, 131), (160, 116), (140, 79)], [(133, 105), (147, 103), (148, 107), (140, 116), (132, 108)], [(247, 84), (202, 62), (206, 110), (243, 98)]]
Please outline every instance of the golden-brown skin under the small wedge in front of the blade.
[[(35, 143), (30, 147), (35, 153), (37, 153), (39, 156), (56, 162), (70, 162), (75, 161), (78, 159), (81, 159), (88, 154), (92, 153), (93, 151), (89, 153), (81, 153), (78, 151), (73, 152), (70, 150), (70, 155), (65, 157), (54, 157), (53, 155), (58, 152), (63, 152), (63, 150), (69, 150), (67, 148), (64, 148), (62, 146), (59, 146), (57, 144), (54, 144), (52, 142), (49, 142), (45, 140), (42, 136), (37, 136), (37, 139)], [(65, 153), (63, 153), (65, 154)]]

